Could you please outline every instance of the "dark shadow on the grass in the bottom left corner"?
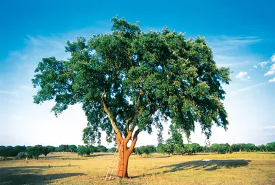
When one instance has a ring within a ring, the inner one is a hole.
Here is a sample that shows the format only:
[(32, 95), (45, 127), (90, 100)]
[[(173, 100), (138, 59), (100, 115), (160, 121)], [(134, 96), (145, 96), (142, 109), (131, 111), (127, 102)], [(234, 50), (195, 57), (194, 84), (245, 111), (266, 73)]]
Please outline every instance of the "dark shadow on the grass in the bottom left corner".
[(84, 173), (54, 173), (43, 175), (46, 168), (67, 166), (17, 166), (0, 168), (0, 184), (50, 184), (55, 179), (85, 175)]

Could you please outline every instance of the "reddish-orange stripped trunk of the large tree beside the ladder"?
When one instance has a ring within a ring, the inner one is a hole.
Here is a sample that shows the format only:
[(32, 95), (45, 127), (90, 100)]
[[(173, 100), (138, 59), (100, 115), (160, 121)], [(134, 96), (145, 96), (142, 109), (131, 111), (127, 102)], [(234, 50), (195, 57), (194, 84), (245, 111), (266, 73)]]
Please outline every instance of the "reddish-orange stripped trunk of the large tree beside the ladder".
[(131, 139), (132, 132), (129, 131), (126, 138), (122, 138), (121, 133), (118, 133), (116, 137), (116, 142), (118, 144), (118, 149), (120, 149), (120, 146), (122, 144), (122, 147), (120, 149), (120, 154), (118, 155), (118, 177), (129, 177), (128, 176), (128, 162), (129, 157), (133, 151), (133, 148), (135, 147), (135, 143), (137, 142), (137, 135), (139, 131), (135, 131), (135, 134), (133, 135), (133, 141), (129, 149), (127, 149), (127, 143)]

